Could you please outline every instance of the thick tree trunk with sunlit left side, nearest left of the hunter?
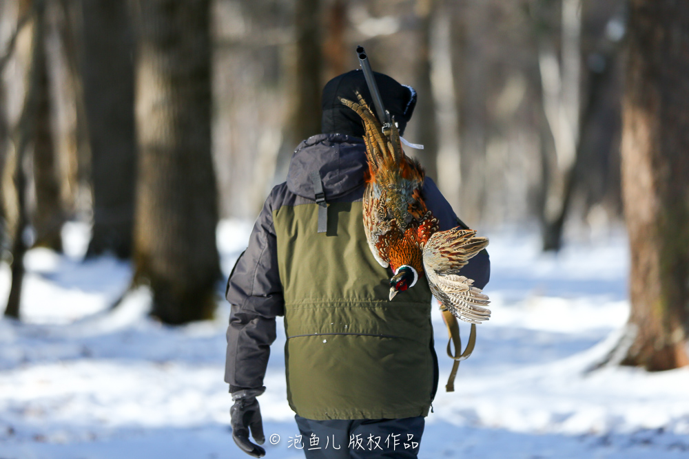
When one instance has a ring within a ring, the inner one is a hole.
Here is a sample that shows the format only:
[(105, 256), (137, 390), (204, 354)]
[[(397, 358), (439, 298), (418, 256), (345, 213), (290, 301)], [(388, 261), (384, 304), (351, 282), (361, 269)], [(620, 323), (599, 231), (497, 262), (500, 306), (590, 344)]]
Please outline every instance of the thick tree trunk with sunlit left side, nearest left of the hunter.
[(209, 0), (138, 0), (134, 280), (165, 323), (212, 317), (220, 279)]

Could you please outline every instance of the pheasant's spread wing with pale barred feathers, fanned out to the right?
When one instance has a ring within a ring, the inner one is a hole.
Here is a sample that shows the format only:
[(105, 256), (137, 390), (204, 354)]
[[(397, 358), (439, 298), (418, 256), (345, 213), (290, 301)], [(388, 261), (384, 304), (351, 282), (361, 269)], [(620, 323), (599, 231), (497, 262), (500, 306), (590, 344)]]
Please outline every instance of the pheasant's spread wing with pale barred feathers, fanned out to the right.
[(489, 298), (459, 270), (488, 245), (485, 237), (462, 228), (434, 233), (424, 246), (424, 270), (431, 292), (457, 319), (481, 323), (491, 317)]

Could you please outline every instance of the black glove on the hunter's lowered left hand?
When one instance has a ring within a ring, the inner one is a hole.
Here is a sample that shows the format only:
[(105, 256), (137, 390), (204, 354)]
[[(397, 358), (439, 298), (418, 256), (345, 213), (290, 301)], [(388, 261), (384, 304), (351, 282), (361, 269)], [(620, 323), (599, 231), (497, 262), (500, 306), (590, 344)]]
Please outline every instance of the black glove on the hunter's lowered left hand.
[[(258, 446), (265, 442), (265, 435), (263, 435), (263, 420), (261, 420), (260, 408), (256, 400), (256, 396), (263, 394), (264, 391), (265, 387), (232, 392), (234, 405), (229, 409), (229, 415), (232, 417), (230, 425), (232, 425), (234, 442), (242, 451), (249, 456), (254, 456), (254, 458), (265, 456), (265, 449)], [(249, 428), (251, 428), (251, 436), (254, 437), (258, 445), (249, 441)]]

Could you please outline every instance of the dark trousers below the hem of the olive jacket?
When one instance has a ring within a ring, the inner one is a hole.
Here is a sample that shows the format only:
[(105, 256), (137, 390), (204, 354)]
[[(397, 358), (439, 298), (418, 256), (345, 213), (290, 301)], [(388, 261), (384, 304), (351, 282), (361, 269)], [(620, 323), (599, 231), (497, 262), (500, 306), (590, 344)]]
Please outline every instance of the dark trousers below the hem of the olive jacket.
[(312, 420), (294, 416), (307, 459), (415, 459), (424, 418)]

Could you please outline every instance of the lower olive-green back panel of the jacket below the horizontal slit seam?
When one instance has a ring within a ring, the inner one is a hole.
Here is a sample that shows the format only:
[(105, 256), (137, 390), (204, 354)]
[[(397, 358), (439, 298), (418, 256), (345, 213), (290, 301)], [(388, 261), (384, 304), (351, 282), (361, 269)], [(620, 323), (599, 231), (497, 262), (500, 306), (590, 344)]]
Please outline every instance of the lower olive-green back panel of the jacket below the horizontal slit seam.
[(319, 333), (291, 336), (286, 351), (288, 400), (300, 416), (391, 418), (428, 410), (435, 378), (428, 341)]

